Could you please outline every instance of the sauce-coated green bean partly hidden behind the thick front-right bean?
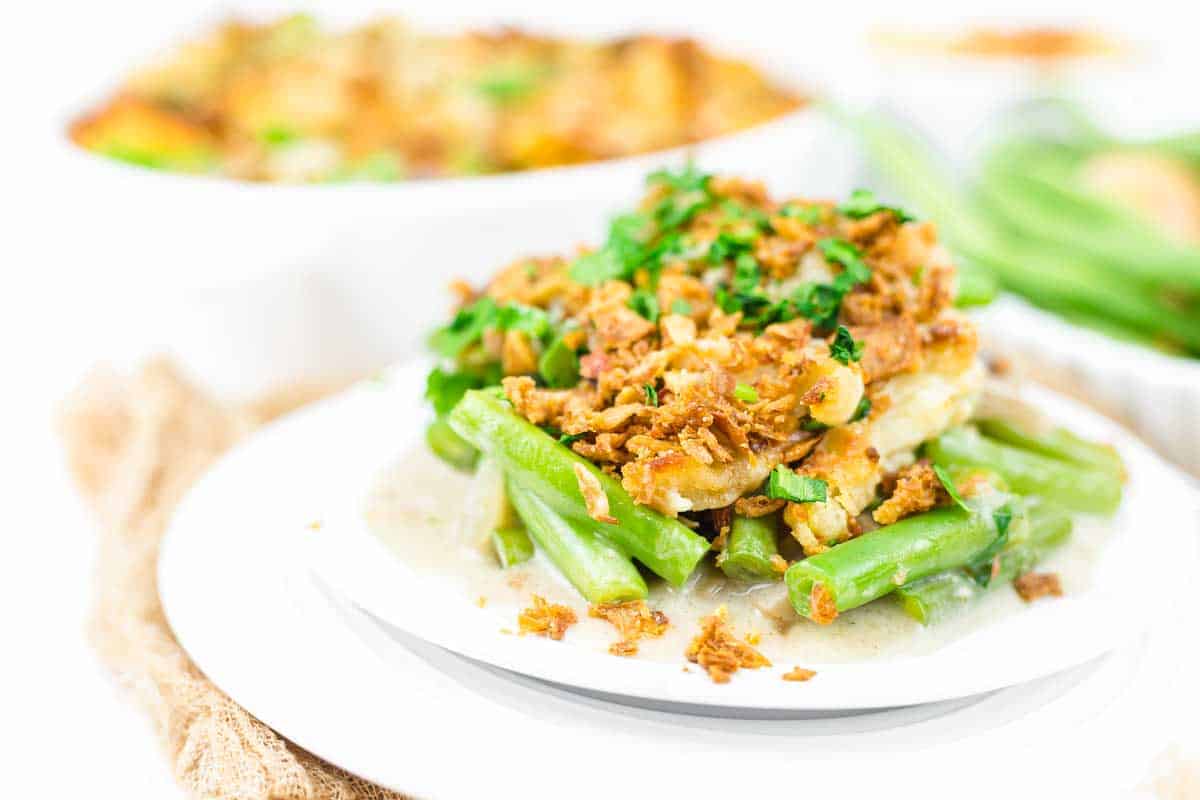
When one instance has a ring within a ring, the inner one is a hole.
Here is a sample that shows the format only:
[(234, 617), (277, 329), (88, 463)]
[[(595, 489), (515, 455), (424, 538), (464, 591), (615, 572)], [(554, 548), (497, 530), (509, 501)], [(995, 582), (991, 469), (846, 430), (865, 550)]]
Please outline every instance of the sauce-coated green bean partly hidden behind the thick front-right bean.
[(1030, 535), (1000, 553), (1000, 569), (986, 587), (964, 570), (947, 570), (896, 589), (905, 613), (922, 625), (932, 625), (980, 597), (994, 587), (1007, 584), (1028, 572), (1045, 555), (1070, 537), (1074, 522), (1057, 506), (1036, 504), (1028, 512)]

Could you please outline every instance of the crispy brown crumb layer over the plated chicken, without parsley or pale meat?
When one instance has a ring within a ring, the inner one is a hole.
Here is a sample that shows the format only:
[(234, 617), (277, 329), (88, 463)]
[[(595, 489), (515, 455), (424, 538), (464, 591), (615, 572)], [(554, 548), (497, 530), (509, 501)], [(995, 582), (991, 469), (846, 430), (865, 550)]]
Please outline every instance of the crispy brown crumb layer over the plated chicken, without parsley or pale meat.
[[(932, 224), (900, 224), (889, 212), (853, 219), (817, 204), (821, 219), (810, 225), (780, 216), (784, 204), (768, 199), (757, 184), (714, 178), (712, 188), (770, 215), (773, 230), (756, 245), (770, 278), (835, 272), (816, 248), (822, 237), (840, 237), (863, 252), (871, 278), (847, 295), (839, 319), (865, 343), (860, 363), (838, 369), (828, 337), (815, 336), (803, 318), (769, 325), (761, 335), (740, 327), (742, 313), (716, 307), (712, 288), (713, 273), (727, 278), (731, 266), (666, 265), (656, 291), (664, 309), (658, 324), (629, 306), (629, 283), (581, 285), (570, 279), (565, 260), (522, 260), (486, 290), (498, 302), (557, 308), (586, 332), (588, 354), (577, 386), (540, 389), (528, 377), (532, 371), (509, 371), (515, 374), (504, 389), (516, 410), (535, 425), (584, 434), (571, 445), (576, 452), (619, 473), (640, 503), (667, 513), (684, 510), (671, 493), (680, 476), (692, 489), (688, 507), (718, 507), (756, 487), (776, 463), (808, 457), (821, 437), (802, 429), (802, 420), (836, 411), (821, 407), (836, 405), (839, 396), (845, 401), (853, 392), (847, 383), (870, 386), (916, 372), (947, 343), (966, 349), (968, 357), (976, 348), (970, 326), (942, 319), (954, 270), (935, 252)], [(698, 213), (689, 234), (702, 248), (728, 229), (724, 212), (714, 209)], [(688, 313), (670, 313), (677, 300), (686, 302)], [(755, 402), (734, 396), (739, 383), (754, 387)], [(646, 385), (660, 386), (656, 407), (647, 403)], [(846, 403), (845, 416), (857, 397)], [(836, 414), (829, 419), (846, 421)]]

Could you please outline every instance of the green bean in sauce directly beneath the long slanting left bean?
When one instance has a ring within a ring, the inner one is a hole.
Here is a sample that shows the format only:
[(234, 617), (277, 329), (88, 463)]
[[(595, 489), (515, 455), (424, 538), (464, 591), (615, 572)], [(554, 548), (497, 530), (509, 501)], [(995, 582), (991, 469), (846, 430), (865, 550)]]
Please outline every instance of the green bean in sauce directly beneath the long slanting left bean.
[(559, 517), (528, 489), (509, 481), (509, 499), (529, 536), (589, 603), (643, 600), (646, 581), (624, 553), (590, 525)]

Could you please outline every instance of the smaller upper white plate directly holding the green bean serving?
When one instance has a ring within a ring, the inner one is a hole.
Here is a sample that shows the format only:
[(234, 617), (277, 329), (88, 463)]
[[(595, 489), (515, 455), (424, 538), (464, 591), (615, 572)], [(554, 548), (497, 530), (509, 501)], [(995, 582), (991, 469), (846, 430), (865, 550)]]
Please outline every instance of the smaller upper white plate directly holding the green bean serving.
[[(563, 642), (509, 636), (502, 630), (515, 626), (516, 606), (476, 607), (451, 577), (422, 573), (397, 559), (364, 519), (372, 483), (419, 440), (425, 371), (421, 362), (400, 367), (258, 434), (204, 480), (178, 524), (211, 529), (228, 524), (229, 510), (266, 511), (272, 525), (294, 531), (295, 547), (311, 547), (312, 567), (325, 582), (380, 619), (437, 645), (594, 692), (752, 709), (908, 705), (1049, 675), (1141, 631), (1148, 618), (1141, 603), (1129, 602), (1130, 576), (1157, 573), (1156, 585), (1186, 585), (1181, 554), (1190, 542), (1174, 517), (1190, 489), (1112, 423), (1039, 391), (1030, 398), (1054, 417), (1117, 443), (1132, 475), (1114, 523), (1118, 530), (1086, 590), (1032, 604), (929, 655), (806, 662), (820, 679), (803, 691), (781, 681), (778, 669), (743, 672), (719, 686), (700, 670), (684, 674), (682, 654), (678, 663), (618, 660), (570, 636)], [(298, 518), (300, 509), (306, 516)], [(310, 530), (314, 521), (320, 522), (317, 531)]]

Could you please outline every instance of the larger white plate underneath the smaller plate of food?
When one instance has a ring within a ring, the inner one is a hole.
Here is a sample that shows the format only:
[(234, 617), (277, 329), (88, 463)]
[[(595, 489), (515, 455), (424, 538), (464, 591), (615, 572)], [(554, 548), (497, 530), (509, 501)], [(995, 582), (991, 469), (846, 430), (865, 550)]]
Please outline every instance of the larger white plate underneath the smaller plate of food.
[[(738, 720), (578, 697), (386, 630), (319, 591), (294, 547), (319, 475), (264, 483), (268, 503), (212, 509), (211, 486), (232, 475), (221, 467), (197, 486), (162, 545), (172, 628), (257, 718), (415, 796), (769, 798), (796, 781), (797, 793), (840, 798), (896, 787), (1127, 798), (1169, 744), (1186, 741), (1190, 721), (1171, 709), (1198, 702), (1194, 637), (1180, 636), (1194, 596), (1156, 604), (1154, 631), (1109, 656), (970, 700)], [(1184, 519), (1194, 536), (1194, 515)]]

